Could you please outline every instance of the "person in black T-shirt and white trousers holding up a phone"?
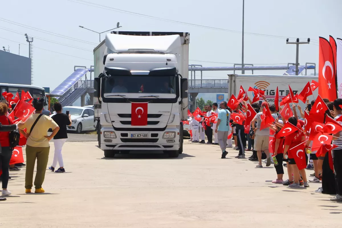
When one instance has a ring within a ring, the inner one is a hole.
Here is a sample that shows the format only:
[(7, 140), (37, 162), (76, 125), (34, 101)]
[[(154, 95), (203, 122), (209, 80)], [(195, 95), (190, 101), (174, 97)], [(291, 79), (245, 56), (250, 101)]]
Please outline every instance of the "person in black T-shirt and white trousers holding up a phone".
[[(66, 132), (66, 126), (71, 125), (71, 116), (66, 115), (65, 113), (62, 113), (62, 105), (58, 102), (54, 104), (54, 109), (56, 111), (56, 114), (52, 116), (51, 118), (58, 124), (60, 127), (60, 130), (57, 132), (57, 134), (53, 137), (53, 144), (55, 146), (55, 153), (53, 156), (53, 162), (52, 165), (49, 167), (49, 170), (56, 173), (64, 173), (64, 164), (63, 164), (63, 157), (62, 157), (62, 147), (64, 143), (66, 142), (66, 139), (68, 138), (67, 132)], [(60, 165), (60, 168), (55, 171), (55, 167), (58, 164)]]

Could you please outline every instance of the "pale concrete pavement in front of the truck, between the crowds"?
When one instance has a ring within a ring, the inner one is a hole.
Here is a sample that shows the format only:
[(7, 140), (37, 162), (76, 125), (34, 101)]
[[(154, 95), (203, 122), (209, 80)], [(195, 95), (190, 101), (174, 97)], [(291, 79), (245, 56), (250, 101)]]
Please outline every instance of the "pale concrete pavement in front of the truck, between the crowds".
[[(0, 202), (0, 227), (341, 227), (342, 204), (315, 193), (321, 184), (272, 184), (273, 165), (255, 169), (254, 162), (234, 158), (238, 151), (220, 159), (218, 146), (185, 140), (177, 159), (107, 159), (96, 145), (67, 142), (66, 173), (47, 170), (46, 193), (25, 194), (25, 168), (11, 172), (12, 196)], [(53, 143), (49, 165), (52, 158)]]

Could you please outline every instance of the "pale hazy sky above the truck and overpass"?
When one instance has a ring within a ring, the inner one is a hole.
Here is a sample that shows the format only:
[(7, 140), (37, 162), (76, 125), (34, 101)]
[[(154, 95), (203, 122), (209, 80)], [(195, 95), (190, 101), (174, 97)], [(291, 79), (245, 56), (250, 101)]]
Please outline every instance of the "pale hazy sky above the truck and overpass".
[[(189, 61), (189, 64), (232, 66), (223, 63), (241, 63), (242, 0), (87, 1), (110, 8), (99, 5), (96, 5), (99, 7), (96, 8), (95, 5), (91, 6), (92, 4), (79, 0), (31, 0), (20, 1), (19, 4), (18, 1), (2, 1), (0, 46), (7, 48), (9, 45), (10, 52), (18, 54), (18, 43), (22, 43), (20, 55), (28, 56), (24, 33), (34, 37), (34, 85), (50, 87), (52, 90), (73, 72), (74, 65), (94, 65), (92, 50), (98, 44), (98, 35), (79, 28), (79, 25), (100, 32), (116, 27), (117, 22), (122, 26), (121, 31), (190, 32), (189, 55), (192, 61)], [(245, 63), (268, 65), (295, 62), (295, 45), (286, 44), (286, 37), (292, 41), (295, 41), (296, 37), (306, 41), (306, 38), (310, 37), (311, 44), (300, 46), (299, 62), (318, 64), (318, 37), (329, 38), (329, 35), (332, 35), (335, 38), (342, 38), (341, 8), (340, 0), (245, 0), (245, 32), (277, 36), (256, 36), (246, 33)], [(117, 9), (238, 32), (161, 21), (123, 13)], [(5, 22), (4, 19), (12, 22)], [(17, 23), (22, 25), (19, 26)], [(42, 30), (57, 34), (49, 35)], [(69, 39), (62, 38), (65, 36)], [(104, 38), (104, 35), (102, 37)], [(260, 74), (283, 72), (284, 70), (261, 71)], [(233, 72), (205, 71), (203, 78), (227, 78), (227, 73)]]

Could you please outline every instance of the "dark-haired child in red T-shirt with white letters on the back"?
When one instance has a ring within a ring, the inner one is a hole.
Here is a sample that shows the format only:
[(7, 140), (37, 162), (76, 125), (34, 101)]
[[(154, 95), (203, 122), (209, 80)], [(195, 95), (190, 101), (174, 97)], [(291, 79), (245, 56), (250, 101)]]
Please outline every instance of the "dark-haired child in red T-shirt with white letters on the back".
[[(292, 125), (297, 126), (297, 128), (302, 129), (300, 122), (295, 117), (290, 117), (288, 120)], [(307, 183), (305, 169), (298, 170), (298, 166), (294, 160), (295, 155), (293, 155), (290, 151), (291, 148), (299, 145), (301, 142), (305, 140), (305, 135), (302, 131), (295, 131), (292, 134), (285, 137), (284, 142), (284, 156), (287, 153), (289, 159), (289, 166), (294, 176), (294, 183), (290, 184), (289, 187), (300, 187), (299, 180), (300, 176), (303, 177), (304, 187), (310, 187)]]

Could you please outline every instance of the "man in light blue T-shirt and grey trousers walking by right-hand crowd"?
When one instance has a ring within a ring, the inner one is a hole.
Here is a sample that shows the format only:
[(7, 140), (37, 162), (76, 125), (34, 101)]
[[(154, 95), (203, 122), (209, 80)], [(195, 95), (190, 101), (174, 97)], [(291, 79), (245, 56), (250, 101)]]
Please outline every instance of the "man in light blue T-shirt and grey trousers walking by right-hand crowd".
[(219, 145), (222, 150), (221, 158), (226, 158), (228, 152), (227, 148), (227, 138), (229, 132), (229, 117), (231, 113), (226, 109), (227, 102), (223, 101), (220, 104), (221, 110), (219, 111), (219, 117), (217, 118), (217, 124), (215, 128), (215, 133), (217, 133), (217, 138), (219, 141)]

